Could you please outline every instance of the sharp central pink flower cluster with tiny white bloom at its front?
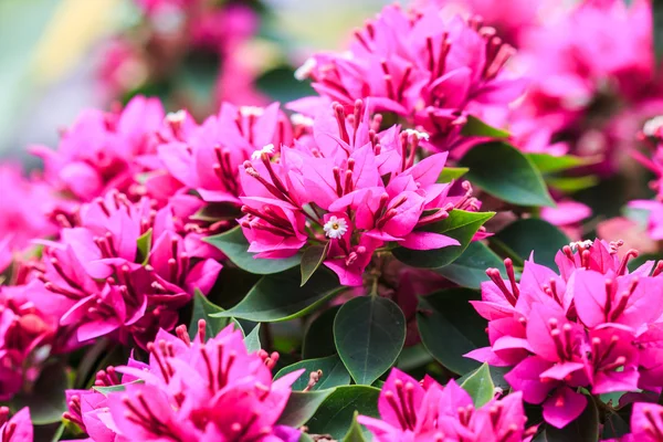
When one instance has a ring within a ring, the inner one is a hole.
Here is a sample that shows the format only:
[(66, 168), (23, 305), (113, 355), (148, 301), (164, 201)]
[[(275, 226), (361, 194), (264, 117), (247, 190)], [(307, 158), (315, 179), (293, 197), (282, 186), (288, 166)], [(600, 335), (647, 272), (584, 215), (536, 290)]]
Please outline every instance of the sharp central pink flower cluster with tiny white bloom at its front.
[(243, 162), (240, 225), (256, 257), (292, 256), (308, 243), (328, 244), (324, 264), (343, 285), (361, 285), (385, 243), (414, 250), (460, 243), (424, 225), (453, 209), (477, 210), (469, 182), (438, 183), (446, 154), (415, 162), (427, 134), (392, 126), (379, 131), (358, 99), (354, 113), (332, 105), (293, 146), (269, 145)]

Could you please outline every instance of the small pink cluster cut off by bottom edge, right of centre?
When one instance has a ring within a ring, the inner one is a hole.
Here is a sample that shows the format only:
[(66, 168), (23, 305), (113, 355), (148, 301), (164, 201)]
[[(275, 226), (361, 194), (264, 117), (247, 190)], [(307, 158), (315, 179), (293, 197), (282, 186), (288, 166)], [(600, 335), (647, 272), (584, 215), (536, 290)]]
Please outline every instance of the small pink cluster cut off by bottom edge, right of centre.
[(394, 368), (387, 378), (378, 410), (381, 419), (358, 417), (377, 442), (530, 441), (520, 393), (493, 399), (476, 409), (470, 394), (451, 380), (442, 387), (425, 377), (418, 382)]

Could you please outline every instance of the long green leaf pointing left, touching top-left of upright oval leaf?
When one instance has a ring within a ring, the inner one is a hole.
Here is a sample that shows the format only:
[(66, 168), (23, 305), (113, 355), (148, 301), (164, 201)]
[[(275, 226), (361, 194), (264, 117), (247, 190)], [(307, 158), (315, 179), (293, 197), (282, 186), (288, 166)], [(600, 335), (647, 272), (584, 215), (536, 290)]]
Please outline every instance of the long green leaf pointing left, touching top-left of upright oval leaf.
[(299, 272), (288, 271), (263, 276), (234, 307), (214, 316), (234, 317), (256, 323), (274, 323), (303, 316), (345, 290), (329, 271), (316, 272), (305, 287)]

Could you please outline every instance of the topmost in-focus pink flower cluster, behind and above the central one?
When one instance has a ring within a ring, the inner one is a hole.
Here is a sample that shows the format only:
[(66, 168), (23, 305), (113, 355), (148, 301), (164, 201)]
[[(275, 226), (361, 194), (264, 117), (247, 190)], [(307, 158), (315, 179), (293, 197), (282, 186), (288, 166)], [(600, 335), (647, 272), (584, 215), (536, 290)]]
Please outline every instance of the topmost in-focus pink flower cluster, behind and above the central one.
[(525, 90), (504, 70), (514, 49), (478, 17), (445, 19), (440, 8), (385, 8), (355, 32), (348, 52), (320, 53), (296, 75), (312, 78), (324, 97), (351, 108), (370, 98), (431, 134), (427, 147), (450, 150), (461, 143), (467, 115), (488, 117)]

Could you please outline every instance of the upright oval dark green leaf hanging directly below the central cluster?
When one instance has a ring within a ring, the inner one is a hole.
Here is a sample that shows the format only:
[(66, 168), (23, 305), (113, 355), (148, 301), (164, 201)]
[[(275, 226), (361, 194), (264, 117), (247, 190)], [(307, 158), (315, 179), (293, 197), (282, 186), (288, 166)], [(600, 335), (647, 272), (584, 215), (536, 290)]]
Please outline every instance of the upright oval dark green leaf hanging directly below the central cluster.
[(393, 366), (403, 348), (406, 316), (385, 297), (356, 297), (338, 311), (334, 340), (352, 379), (371, 385)]

